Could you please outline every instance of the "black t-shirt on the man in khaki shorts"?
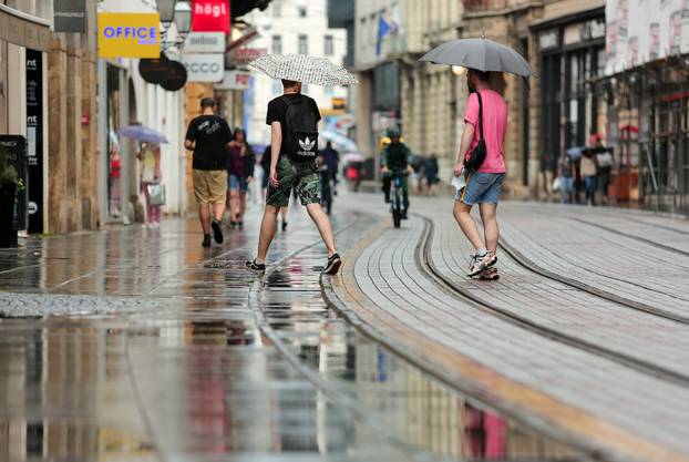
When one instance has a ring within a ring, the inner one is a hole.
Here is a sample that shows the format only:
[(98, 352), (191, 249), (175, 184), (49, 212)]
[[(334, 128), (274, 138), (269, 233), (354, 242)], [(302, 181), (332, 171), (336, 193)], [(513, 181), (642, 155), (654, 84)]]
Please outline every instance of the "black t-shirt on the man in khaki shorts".
[(217, 115), (199, 115), (189, 122), (186, 138), (196, 142), (194, 147), (195, 170), (225, 170), (227, 167), (227, 143), (232, 137), (232, 130), (225, 119)]

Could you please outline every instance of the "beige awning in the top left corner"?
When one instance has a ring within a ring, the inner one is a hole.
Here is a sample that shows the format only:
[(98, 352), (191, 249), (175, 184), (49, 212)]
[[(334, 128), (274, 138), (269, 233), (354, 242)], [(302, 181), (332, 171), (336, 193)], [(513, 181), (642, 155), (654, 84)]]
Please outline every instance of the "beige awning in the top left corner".
[(0, 40), (31, 50), (48, 51), (50, 21), (0, 3)]

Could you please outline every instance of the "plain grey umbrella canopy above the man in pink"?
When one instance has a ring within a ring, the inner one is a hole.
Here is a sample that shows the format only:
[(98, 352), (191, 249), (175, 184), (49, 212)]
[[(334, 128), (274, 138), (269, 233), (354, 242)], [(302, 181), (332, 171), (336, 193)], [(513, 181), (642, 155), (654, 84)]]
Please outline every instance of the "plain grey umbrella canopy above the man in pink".
[(528, 62), (513, 49), (487, 39), (461, 39), (445, 42), (425, 53), (419, 61), (461, 65), (484, 72), (510, 72), (533, 75)]

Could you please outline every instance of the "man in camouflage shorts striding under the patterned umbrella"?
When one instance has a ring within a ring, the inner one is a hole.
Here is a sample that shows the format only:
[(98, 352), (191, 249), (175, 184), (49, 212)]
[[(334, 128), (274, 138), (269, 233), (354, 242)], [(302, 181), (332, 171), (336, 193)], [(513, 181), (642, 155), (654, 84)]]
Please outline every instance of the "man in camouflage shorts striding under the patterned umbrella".
[[(289, 203), (292, 188), (297, 191), (301, 204), (306, 207), (309, 216), (316, 223), (323, 243), (328, 248), (328, 263), (323, 273), (335, 275), (340, 269), (342, 260), (335, 249), (335, 237), (328, 215), (320, 207), (320, 176), (316, 158), (296, 158), (287, 154), (290, 152), (286, 140), (287, 110), (290, 104), (306, 104), (316, 120), (320, 120), (320, 112), (316, 101), (301, 94), (301, 83), (282, 80), (284, 94), (268, 103), (266, 124), (270, 125), (270, 167), (268, 170), (268, 194), (266, 211), (260, 225), (258, 239), (258, 255), (253, 261), (247, 261), (247, 268), (254, 273), (263, 274), (266, 270), (266, 256), (270, 243), (275, 237), (278, 214), (280, 208)], [(285, 99), (289, 101), (285, 101)], [(290, 137), (294, 134), (290, 134)], [(308, 138), (306, 140), (308, 143)], [(302, 143), (302, 141), (299, 141)]]

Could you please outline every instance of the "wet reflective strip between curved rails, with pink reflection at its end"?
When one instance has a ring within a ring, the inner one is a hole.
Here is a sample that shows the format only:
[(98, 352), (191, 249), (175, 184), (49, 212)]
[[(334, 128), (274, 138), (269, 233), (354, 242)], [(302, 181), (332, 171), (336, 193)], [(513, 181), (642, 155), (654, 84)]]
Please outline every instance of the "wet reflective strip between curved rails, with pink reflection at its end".
[[(289, 263), (299, 267), (298, 258)], [(358, 333), (320, 297), (312, 277), (280, 271), (267, 281), (261, 301), (270, 325), (295, 347), (302, 363), (357, 399), (400, 440), (452, 459), (585, 460), (566, 445), (463, 397)], [(272, 281), (278, 281), (278, 298)], [(284, 294), (281, 287), (292, 290)]]

